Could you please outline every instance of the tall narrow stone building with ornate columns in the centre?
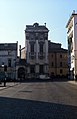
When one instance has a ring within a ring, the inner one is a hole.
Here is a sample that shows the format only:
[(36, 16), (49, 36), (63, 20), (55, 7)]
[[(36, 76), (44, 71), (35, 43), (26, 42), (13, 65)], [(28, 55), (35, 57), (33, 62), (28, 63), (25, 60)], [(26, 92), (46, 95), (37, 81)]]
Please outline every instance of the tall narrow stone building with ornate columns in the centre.
[(26, 62), (30, 78), (48, 75), (48, 32), (46, 24), (26, 25)]

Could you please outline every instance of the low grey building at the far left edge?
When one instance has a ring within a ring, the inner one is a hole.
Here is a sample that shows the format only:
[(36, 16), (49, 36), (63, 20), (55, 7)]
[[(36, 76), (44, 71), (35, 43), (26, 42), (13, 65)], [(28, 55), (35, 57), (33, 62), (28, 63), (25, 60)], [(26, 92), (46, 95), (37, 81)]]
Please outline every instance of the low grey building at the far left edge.
[(18, 55), (17, 43), (0, 44), (0, 77), (7, 74), (8, 79), (16, 78), (16, 59)]

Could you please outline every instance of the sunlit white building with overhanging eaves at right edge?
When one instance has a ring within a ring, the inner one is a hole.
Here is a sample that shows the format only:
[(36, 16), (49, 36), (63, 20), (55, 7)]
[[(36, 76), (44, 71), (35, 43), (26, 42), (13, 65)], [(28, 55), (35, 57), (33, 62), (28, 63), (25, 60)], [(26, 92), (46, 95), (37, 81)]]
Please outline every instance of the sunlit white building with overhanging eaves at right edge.
[(68, 66), (70, 79), (77, 76), (77, 13), (73, 11), (67, 25)]

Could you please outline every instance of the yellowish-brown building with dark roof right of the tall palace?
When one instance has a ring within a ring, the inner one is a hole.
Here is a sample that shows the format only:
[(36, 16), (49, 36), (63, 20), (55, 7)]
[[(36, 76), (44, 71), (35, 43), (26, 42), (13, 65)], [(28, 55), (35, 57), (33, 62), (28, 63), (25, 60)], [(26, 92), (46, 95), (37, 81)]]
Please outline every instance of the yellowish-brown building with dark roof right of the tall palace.
[(61, 48), (61, 44), (49, 41), (48, 60), (50, 76), (67, 76), (68, 58), (67, 50)]

